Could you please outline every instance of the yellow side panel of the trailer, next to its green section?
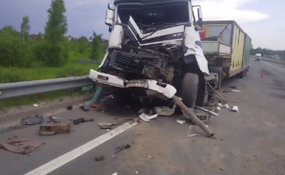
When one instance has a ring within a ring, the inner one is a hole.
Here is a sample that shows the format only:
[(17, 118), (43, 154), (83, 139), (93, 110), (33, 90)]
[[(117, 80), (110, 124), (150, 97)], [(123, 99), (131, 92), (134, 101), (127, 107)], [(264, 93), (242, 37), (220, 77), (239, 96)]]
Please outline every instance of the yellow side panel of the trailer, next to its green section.
[(235, 24), (233, 28), (232, 59), (230, 71), (242, 68), (245, 33)]

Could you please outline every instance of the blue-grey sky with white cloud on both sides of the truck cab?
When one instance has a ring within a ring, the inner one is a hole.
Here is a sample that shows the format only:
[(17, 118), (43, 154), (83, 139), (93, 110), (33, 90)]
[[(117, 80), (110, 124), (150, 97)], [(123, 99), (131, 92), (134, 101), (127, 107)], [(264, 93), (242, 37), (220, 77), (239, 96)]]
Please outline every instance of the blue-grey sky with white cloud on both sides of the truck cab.
[[(107, 4), (112, 0), (66, 0), (68, 35), (90, 37), (92, 31), (103, 33)], [(236, 20), (253, 39), (254, 47), (285, 50), (285, 1), (281, 0), (193, 0), (201, 5), (203, 20)], [(24, 15), (30, 17), (31, 33), (44, 31), (50, 0), (0, 0), (0, 28), (19, 29)]]

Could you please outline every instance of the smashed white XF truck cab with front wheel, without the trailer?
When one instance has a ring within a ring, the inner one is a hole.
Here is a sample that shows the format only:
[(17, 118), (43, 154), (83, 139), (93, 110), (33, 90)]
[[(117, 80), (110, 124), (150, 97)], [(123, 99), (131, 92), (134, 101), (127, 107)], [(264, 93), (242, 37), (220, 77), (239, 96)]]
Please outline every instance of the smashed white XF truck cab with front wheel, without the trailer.
[(176, 94), (187, 107), (203, 105), (211, 96), (207, 84), (217, 87), (219, 77), (209, 73), (198, 31), (202, 11), (198, 6), (198, 16), (194, 16), (193, 7), (190, 0), (115, 0), (109, 4), (108, 49), (99, 69), (91, 69), (89, 77), (109, 88), (118, 87), (116, 94), (138, 87), (135, 91), (140, 92), (134, 93), (159, 92), (167, 98)]

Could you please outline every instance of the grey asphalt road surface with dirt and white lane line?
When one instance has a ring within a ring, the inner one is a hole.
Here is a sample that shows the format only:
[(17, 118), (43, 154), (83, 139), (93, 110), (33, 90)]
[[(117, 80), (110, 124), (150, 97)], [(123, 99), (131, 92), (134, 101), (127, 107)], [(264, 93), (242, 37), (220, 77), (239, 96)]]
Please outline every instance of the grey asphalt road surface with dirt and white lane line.
[[(177, 116), (107, 131), (97, 123), (134, 118), (138, 110), (112, 106), (101, 112), (83, 112), (77, 106), (54, 115), (62, 123), (79, 117), (95, 121), (72, 125), (70, 134), (40, 136), (38, 125), (1, 134), (1, 142), (17, 135), (45, 144), (28, 155), (0, 149), (0, 174), (285, 174), (285, 69), (252, 59), (250, 65), (245, 78), (223, 83), (223, 89), (231, 85), (242, 92), (227, 93), (240, 102), (229, 100), (239, 107), (238, 112), (222, 108), (218, 117), (208, 121), (215, 138), (207, 138), (197, 125), (176, 123)], [(189, 134), (199, 135), (182, 139)], [(115, 147), (125, 144), (131, 149), (115, 153)], [(95, 161), (100, 156), (104, 159)]]

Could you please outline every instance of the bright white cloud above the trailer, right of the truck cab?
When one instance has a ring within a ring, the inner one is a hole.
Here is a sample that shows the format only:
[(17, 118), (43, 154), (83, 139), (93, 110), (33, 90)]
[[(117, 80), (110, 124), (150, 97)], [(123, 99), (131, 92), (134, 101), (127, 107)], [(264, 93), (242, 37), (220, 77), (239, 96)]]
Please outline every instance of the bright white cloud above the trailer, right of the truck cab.
[[(194, 0), (193, 5), (200, 5), (203, 20), (235, 20), (239, 24), (269, 18), (268, 14), (253, 10), (242, 10), (242, 5), (253, 0)], [(195, 11), (194, 11), (195, 12)], [(196, 15), (196, 14), (195, 14)]]

